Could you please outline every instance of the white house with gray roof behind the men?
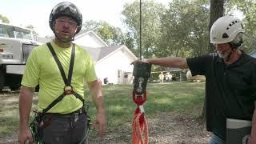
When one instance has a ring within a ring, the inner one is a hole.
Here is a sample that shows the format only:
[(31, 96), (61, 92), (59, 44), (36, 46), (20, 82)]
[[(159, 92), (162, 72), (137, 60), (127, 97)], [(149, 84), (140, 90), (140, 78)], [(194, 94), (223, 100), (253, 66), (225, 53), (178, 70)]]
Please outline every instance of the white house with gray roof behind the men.
[(138, 59), (126, 46), (108, 46), (93, 31), (78, 34), (74, 42), (90, 52), (102, 84), (131, 84), (133, 65)]

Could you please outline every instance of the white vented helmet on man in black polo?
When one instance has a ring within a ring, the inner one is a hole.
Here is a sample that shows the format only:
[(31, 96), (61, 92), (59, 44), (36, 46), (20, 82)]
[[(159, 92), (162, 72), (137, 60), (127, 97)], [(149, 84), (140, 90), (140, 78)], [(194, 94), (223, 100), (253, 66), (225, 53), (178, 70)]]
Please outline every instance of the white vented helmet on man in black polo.
[(223, 16), (210, 29), (210, 43), (232, 42), (238, 33), (244, 33), (242, 22), (232, 16)]

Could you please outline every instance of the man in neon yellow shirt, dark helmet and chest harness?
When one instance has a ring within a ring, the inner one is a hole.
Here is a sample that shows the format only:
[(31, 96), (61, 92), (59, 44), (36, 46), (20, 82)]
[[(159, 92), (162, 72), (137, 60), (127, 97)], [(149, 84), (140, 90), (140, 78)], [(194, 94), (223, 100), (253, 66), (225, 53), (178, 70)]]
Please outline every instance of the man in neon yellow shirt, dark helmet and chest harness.
[[(18, 102), (18, 142), (34, 141), (29, 118), (33, 90), (38, 84), (38, 113), (42, 114), (42, 130), (38, 133), (41, 133), (43, 143), (76, 144), (85, 138), (89, 119), (84, 106), (84, 82), (89, 86), (98, 111), (94, 127), (98, 128), (102, 138), (106, 132), (102, 88), (90, 54), (73, 43), (75, 34), (82, 28), (82, 14), (73, 3), (60, 2), (51, 10), (49, 23), (55, 38), (34, 48), (26, 62)], [(87, 142), (88, 138), (83, 143)]]

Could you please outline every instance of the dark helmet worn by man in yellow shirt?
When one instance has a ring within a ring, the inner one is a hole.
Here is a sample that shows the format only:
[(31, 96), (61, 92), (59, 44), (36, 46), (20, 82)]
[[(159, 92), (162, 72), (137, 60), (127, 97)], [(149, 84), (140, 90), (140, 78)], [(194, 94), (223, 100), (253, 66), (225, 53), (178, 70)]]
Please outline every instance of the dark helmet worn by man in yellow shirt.
[(50, 12), (49, 25), (50, 29), (54, 31), (54, 22), (56, 18), (61, 16), (67, 16), (73, 18), (77, 22), (78, 30), (75, 34), (78, 34), (82, 28), (82, 14), (78, 10), (78, 7), (71, 2), (61, 2), (54, 6)]

